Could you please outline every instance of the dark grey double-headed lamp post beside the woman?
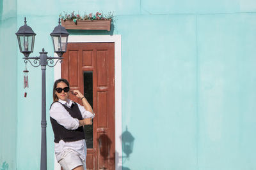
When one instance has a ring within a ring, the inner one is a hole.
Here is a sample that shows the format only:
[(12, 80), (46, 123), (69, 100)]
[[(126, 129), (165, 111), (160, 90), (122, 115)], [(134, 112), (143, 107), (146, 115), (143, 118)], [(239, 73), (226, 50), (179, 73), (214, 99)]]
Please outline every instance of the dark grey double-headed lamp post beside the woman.
[[(20, 27), (19, 31), (16, 33), (19, 43), (20, 52), (24, 54), (24, 62), (30, 64), (33, 67), (41, 66), (42, 69), (42, 138), (41, 138), (41, 162), (40, 169), (47, 169), (47, 153), (46, 153), (46, 96), (45, 96), (45, 70), (46, 66), (54, 67), (56, 66), (58, 60), (63, 59), (61, 56), (67, 50), (68, 42), (68, 32), (65, 27), (59, 25), (54, 28), (51, 33), (52, 43), (54, 46), (54, 52), (58, 54), (59, 57), (48, 57), (47, 52), (42, 49), (39, 57), (29, 57), (29, 54), (33, 52), (35, 44), (35, 32), (27, 25), (26, 17), (24, 19), (24, 25)], [(33, 60), (33, 62), (31, 62)], [(54, 64), (54, 60), (57, 60)]]

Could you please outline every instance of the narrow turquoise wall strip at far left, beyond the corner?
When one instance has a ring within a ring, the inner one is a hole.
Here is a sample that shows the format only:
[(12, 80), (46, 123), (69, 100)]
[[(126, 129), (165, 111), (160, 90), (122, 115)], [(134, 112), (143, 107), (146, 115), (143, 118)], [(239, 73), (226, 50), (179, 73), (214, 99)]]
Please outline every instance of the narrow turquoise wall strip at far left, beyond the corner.
[(17, 167), (17, 3), (0, 1), (0, 169)]

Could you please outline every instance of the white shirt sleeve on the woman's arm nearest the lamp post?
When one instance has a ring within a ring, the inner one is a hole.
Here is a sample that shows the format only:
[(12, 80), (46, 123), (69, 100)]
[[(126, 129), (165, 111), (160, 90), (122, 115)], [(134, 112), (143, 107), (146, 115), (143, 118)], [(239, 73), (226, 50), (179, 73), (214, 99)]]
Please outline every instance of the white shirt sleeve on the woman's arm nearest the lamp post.
[(72, 118), (68, 111), (58, 102), (52, 104), (50, 117), (68, 130), (75, 130), (79, 127), (79, 120)]

